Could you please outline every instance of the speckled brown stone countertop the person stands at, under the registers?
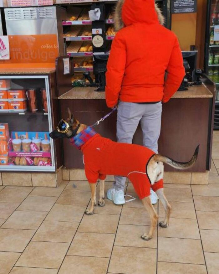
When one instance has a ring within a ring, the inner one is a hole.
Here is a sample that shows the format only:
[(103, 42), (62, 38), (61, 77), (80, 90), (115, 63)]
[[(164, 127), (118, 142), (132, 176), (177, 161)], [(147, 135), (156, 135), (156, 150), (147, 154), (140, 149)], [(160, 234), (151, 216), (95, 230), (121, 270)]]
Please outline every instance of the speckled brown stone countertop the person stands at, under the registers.
[[(94, 91), (94, 87), (74, 87), (58, 99), (105, 99), (105, 92)], [(172, 98), (211, 98), (212, 93), (202, 84), (191, 86), (186, 91), (177, 91)]]

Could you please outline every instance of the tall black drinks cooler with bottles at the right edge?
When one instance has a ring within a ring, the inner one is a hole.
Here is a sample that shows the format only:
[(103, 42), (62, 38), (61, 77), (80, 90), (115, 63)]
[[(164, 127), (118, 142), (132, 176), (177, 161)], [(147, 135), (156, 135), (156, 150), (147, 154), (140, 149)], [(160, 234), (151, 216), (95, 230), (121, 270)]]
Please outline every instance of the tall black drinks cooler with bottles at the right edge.
[(205, 38), (205, 73), (216, 85), (214, 129), (219, 129), (219, 1), (208, 0)]

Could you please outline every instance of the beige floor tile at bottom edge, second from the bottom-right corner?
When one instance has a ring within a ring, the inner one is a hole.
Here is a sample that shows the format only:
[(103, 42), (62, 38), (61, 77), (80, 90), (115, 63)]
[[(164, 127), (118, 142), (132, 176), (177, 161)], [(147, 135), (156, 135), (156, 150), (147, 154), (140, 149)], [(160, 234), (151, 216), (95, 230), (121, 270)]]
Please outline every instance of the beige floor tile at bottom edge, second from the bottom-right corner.
[(207, 271), (204, 265), (158, 262), (157, 274), (207, 274)]

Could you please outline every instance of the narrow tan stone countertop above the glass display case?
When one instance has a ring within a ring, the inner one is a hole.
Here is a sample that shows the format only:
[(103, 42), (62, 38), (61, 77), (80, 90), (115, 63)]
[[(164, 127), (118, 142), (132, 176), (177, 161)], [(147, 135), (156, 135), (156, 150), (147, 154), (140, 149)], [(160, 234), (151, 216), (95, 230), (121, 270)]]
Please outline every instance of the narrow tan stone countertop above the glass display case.
[(55, 71), (55, 68), (37, 68), (37, 69), (0, 69), (1, 74), (50, 74)]

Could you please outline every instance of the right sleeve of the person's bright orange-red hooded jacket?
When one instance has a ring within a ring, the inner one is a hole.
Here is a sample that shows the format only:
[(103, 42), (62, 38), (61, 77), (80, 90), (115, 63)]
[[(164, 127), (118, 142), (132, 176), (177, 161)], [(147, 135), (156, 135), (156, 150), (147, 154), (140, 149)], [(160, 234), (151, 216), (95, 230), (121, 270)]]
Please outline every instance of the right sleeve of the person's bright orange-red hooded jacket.
[(167, 78), (164, 85), (163, 103), (170, 100), (171, 96), (178, 90), (185, 76), (185, 69), (183, 66), (182, 53), (176, 38), (174, 47), (172, 49), (171, 57), (167, 66)]

